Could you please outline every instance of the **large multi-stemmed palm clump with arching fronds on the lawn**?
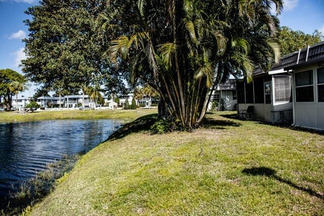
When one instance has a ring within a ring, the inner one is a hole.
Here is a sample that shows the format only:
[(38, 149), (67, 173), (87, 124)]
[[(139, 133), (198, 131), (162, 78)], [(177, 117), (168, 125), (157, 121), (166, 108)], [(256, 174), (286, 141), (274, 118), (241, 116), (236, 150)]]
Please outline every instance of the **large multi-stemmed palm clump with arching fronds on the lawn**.
[(256, 66), (279, 61), (282, 0), (114, 1), (98, 18), (116, 64), (130, 81), (155, 89), (169, 118), (196, 128), (217, 84), (229, 75), (250, 82)]

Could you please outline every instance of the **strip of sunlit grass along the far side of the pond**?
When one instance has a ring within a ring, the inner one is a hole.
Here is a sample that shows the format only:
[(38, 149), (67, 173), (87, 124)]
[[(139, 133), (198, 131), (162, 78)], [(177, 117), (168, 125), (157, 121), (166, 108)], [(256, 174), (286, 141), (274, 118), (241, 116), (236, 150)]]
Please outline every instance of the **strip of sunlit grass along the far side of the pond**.
[(100, 118), (123, 118), (134, 120), (142, 115), (156, 113), (157, 109), (136, 110), (71, 110), (71, 111), (42, 111), (20, 115), (17, 112), (0, 112), (1, 121), (31, 121), (50, 119), (100, 119)]

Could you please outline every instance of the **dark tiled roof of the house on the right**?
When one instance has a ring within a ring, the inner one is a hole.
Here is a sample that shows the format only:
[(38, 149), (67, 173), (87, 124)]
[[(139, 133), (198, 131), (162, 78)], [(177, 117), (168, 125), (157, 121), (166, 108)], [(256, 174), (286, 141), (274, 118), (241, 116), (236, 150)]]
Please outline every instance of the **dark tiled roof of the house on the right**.
[[(311, 47), (307, 47), (294, 53), (290, 53), (281, 58), (278, 64), (272, 66), (271, 71), (280, 69), (291, 69), (297, 66), (315, 63), (324, 60), (324, 41)], [(264, 72), (260, 67), (256, 68), (253, 75), (259, 75)]]

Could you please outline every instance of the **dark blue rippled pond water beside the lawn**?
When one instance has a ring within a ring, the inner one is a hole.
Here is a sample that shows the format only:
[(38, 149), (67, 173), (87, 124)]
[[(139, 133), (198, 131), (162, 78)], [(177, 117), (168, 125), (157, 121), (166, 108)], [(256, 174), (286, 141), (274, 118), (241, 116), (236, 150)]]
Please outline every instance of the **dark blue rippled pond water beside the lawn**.
[(0, 208), (12, 185), (28, 180), (65, 154), (88, 152), (121, 124), (113, 119), (0, 123)]

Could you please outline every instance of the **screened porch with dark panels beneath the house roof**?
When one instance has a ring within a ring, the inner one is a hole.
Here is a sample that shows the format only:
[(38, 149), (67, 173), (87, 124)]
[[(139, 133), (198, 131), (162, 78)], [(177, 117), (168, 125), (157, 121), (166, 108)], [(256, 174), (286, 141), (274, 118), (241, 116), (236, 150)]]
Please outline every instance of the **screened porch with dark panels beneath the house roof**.
[[(256, 120), (278, 123), (293, 118), (291, 75), (262, 75), (250, 83), (241, 80), (236, 89), (238, 116), (241, 110), (253, 106), (251, 118)], [(286, 120), (282, 120), (282, 113)]]

